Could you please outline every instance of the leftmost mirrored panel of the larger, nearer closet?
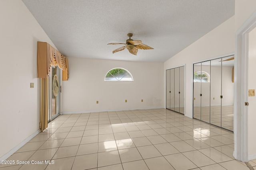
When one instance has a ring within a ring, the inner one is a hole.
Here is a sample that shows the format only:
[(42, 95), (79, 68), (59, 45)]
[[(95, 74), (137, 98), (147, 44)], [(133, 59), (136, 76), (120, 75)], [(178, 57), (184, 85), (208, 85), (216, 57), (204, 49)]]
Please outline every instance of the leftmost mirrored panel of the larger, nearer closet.
[(201, 120), (201, 63), (194, 64), (193, 117)]

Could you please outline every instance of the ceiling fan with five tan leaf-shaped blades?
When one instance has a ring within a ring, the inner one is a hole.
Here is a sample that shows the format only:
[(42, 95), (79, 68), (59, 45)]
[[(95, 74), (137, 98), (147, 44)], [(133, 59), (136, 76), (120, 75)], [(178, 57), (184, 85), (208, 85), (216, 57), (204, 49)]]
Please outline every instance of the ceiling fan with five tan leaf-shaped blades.
[(122, 51), (125, 48), (128, 49), (128, 51), (133, 55), (137, 55), (138, 49), (143, 49), (143, 50), (153, 49), (152, 47), (149, 47), (148, 45), (142, 44), (141, 40), (131, 39), (132, 33), (128, 33), (127, 36), (129, 37), (129, 39), (126, 40), (126, 44), (125, 43), (108, 43), (108, 45), (125, 44), (125, 46), (115, 49), (112, 52), (113, 54), (118, 51)]

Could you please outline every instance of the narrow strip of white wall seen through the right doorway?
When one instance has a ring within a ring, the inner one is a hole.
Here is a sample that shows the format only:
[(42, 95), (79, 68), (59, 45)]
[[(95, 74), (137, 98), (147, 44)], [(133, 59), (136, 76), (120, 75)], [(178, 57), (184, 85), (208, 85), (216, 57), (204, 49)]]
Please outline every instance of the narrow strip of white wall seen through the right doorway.
[[(249, 56), (248, 56), (248, 89), (256, 89), (256, 28), (249, 33)], [(256, 97), (248, 97), (248, 154), (256, 154)]]

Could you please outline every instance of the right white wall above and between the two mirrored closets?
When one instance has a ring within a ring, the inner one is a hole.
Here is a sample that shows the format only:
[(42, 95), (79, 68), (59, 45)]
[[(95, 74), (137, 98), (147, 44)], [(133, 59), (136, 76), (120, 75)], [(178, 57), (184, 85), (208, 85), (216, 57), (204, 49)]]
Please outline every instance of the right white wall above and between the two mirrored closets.
[(164, 63), (164, 96), (166, 93), (165, 70), (170, 67), (186, 64), (186, 116), (192, 117), (192, 63), (228, 53), (234, 53), (234, 47), (235, 36), (233, 16)]

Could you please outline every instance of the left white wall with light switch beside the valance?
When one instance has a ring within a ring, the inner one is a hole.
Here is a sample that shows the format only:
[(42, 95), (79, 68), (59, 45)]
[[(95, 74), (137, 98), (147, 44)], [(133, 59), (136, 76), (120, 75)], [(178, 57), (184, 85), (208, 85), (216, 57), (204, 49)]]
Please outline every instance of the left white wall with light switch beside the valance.
[(37, 41), (54, 45), (21, 0), (0, 0), (0, 21), (1, 158), (39, 129)]

